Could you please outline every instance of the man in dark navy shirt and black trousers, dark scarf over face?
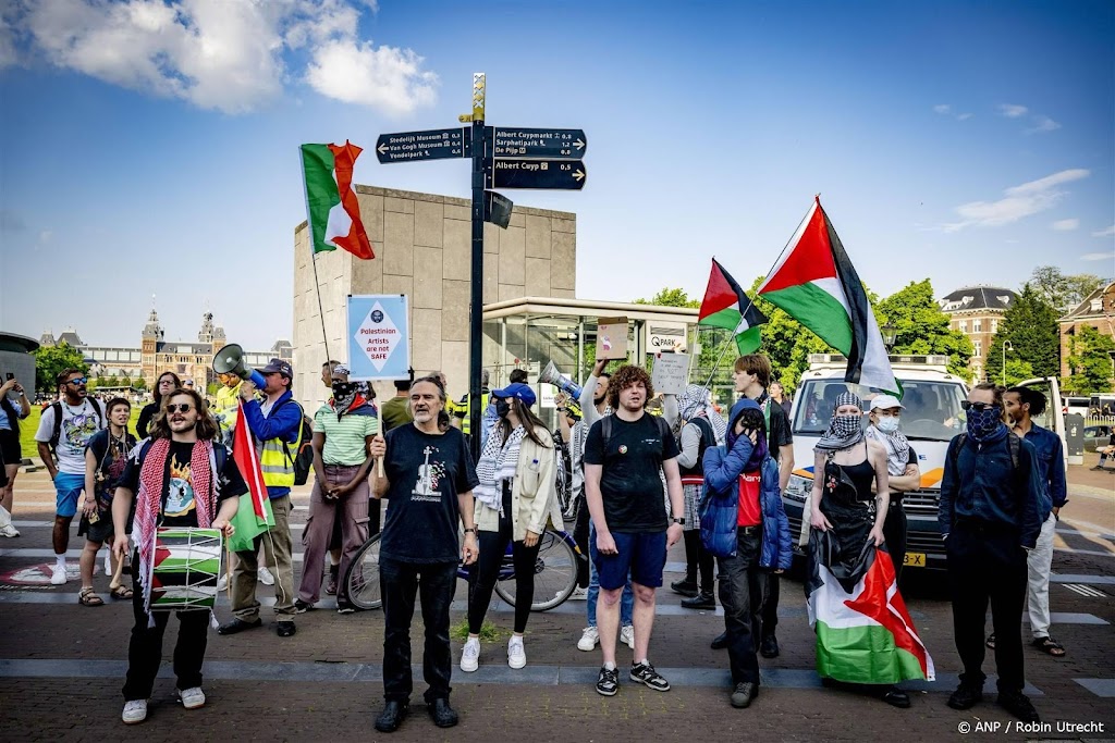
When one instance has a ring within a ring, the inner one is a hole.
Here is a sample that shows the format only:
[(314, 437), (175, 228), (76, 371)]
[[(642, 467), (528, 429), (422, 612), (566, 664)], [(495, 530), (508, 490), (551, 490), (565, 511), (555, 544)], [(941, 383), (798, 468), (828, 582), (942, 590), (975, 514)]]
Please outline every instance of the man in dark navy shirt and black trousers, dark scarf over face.
[(1024, 722), (1038, 713), (1022, 694), (1027, 553), (1051, 509), (1029, 441), (1004, 422), (1002, 388), (977, 384), (961, 403), (967, 431), (949, 442), (938, 520), (944, 536), (952, 632), (963, 663), (953, 710), (983, 698), (983, 628), (991, 605), (999, 706)]

